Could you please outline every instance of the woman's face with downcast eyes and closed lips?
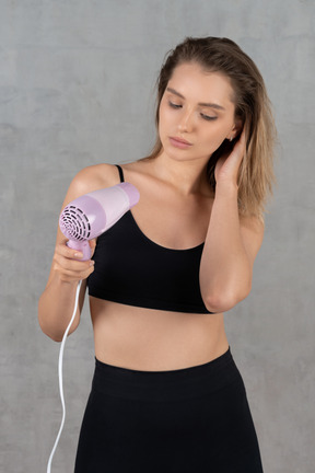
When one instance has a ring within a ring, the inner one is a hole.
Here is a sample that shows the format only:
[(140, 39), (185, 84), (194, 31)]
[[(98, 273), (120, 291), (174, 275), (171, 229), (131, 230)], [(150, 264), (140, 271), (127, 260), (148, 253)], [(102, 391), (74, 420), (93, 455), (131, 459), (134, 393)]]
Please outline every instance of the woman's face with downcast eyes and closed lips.
[(209, 157), (240, 131), (230, 79), (197, 64), (177, 66), (160, 104), (163, 151), (176, 160)]

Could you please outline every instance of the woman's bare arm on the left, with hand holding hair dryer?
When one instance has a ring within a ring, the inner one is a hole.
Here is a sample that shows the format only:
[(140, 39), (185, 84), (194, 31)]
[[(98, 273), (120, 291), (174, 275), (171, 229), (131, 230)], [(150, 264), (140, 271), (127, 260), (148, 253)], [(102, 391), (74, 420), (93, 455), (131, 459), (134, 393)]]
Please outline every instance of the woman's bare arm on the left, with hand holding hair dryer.
[[(91, 169), (82, 170), (77, 174), (70, 184), (62, 209), (80, 195), (95, 189), (95, 183), (91, 183), (89, 174), (91, 177)], [(48, 282), (38, 301), (38, 321), (40, 328), (56, 342), (61, 342), (63, 333), (70, 322), (74, 308), (78, 282), (82, 280), (79, 307), (69, 334), (74, 332), (78, 327), (84, 302), (86, 278), (94, 270), (94, 262), (91, 259), (86, 262), (79, 261), (82, 254), (80, 255), (77, 250), (68, 247), (66, 244), (67, 241), (58, 226)], [(93, 253), (95, 240), (91, 240), (90, 246)]]

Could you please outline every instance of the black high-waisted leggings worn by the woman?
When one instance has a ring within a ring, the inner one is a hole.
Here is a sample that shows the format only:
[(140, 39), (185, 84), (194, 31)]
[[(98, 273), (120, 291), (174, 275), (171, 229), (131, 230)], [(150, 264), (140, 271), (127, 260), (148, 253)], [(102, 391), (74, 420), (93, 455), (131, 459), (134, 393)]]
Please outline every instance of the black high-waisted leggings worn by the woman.
[(261, 473), (231, 350), (205, 365), (138, 371), (96, 360), (74, 473)]

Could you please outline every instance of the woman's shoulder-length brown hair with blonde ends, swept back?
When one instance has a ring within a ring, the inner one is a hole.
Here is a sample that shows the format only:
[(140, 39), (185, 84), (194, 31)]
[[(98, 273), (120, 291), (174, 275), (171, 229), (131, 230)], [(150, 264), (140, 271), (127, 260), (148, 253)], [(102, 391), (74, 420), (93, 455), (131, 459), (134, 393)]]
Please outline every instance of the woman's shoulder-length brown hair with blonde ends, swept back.
[[(246, 151), (238, 172), (240, 215), (262, 217), (267, 197), (272, 194), (273, 148), (276, 127), (264, 79), (254, 61), (231, 39), (219, 37), (187, 37), (166, 55), (158, 78), (155, 125), (159, 129), (160, 103), (174, 69), (195, 62), (207, 72), (220, 72), (230, 78), (234, 91), (235, 118), (246, 125)], [(240, 136), (237, 137), (240, 138)], [(236, 139), (237, 139), (236, 138)], [(208, 177), (215, 191), (214, 168), (218, 159), (231, 152), (235, 140), (225, 139), (208, 162)], [(156, 158), (162, 150), (158, 135), (148, 158)]]

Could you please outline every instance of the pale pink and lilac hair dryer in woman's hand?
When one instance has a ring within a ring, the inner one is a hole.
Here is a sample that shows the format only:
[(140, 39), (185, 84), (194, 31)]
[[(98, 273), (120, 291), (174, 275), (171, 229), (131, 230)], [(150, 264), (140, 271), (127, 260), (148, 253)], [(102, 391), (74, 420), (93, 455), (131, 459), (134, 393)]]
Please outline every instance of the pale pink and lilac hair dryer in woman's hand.
[(59, 218), (67, 245), (83, 253), (81, 261), (91, 258), (89, 240), (104, 233), (139, 201), (138, 189), (130, 183), (94, 191), (72, 200)]

